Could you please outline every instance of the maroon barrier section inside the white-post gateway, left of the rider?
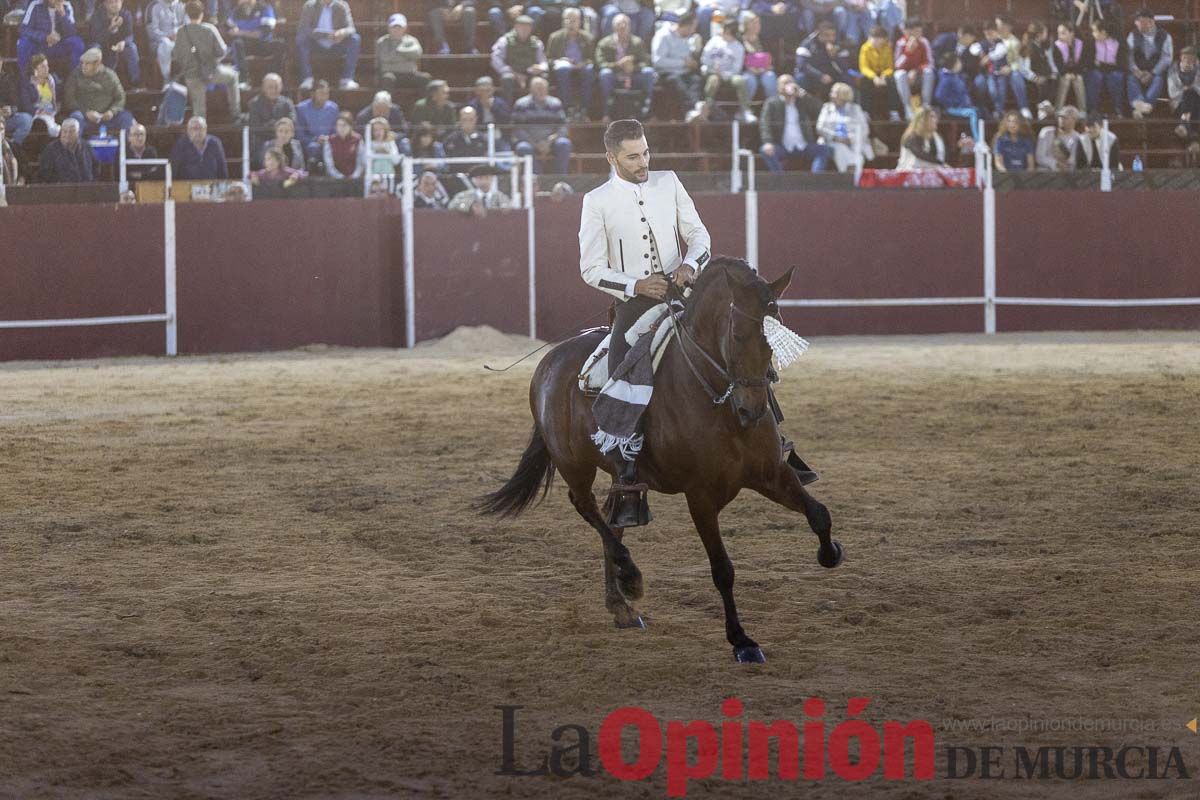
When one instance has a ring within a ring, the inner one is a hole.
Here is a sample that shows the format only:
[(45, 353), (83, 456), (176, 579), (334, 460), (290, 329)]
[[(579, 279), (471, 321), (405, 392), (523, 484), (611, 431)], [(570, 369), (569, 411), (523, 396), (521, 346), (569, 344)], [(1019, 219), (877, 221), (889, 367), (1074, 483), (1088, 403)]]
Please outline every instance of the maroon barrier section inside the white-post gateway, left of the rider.
[[(395, 224), (400, 224), (398, 217)], [(413, 211), (413, 230), (418, 342), (444, 336), (458, 325), (529, 332), (529, 233), (524, 211), (490, 211), (482, 218)], [(400, 276), (403, 263), (403, 251), (397, 249)], [(397, 313), (402, 320), (402, 296)], [(403, 324), (397, 331), (403, 344)]]

